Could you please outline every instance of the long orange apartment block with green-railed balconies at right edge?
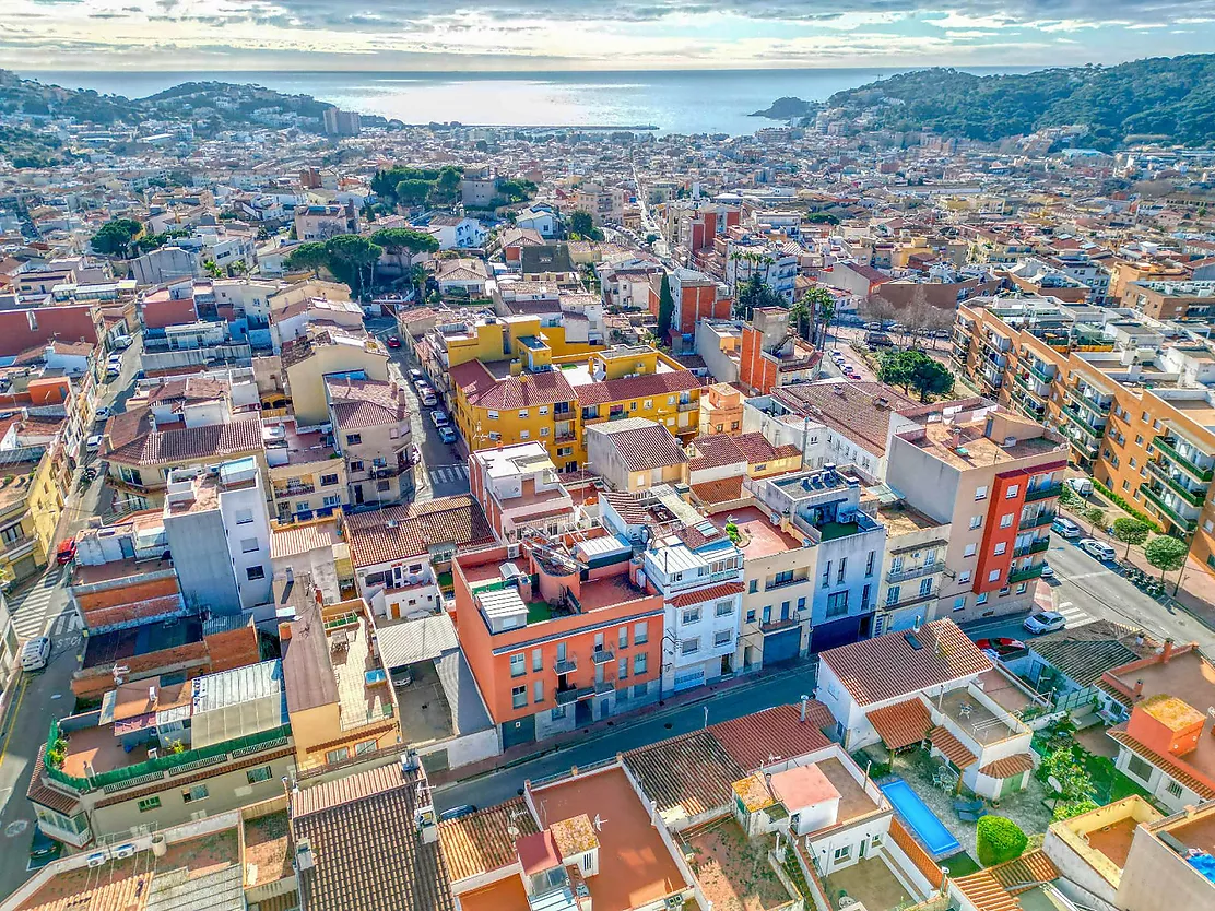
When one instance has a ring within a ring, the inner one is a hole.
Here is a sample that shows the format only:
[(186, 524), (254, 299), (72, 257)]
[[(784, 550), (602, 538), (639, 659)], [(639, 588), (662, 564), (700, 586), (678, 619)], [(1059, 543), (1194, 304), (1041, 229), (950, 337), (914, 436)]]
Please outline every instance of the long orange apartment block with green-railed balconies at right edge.
[(1069, 460), (1187, 539), (1215, 572), (1215, 353), (1100, 307), (959, 307), (954, 361), (1006, 407), (1057, 428)]

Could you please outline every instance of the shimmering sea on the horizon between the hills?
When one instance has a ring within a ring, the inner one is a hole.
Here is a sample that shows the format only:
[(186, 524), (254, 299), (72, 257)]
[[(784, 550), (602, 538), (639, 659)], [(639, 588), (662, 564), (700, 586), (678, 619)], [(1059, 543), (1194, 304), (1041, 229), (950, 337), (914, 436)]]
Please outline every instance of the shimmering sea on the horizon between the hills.
[[(654, 126), (660, 132), (755, 132), (775, 121), (748, 114), (776, 98), (826, 101), (904, 69), (717, 69), (553, 73), (384, 72), (26, 72), (66, 89), (140, 98), (187, 81), (254, 83), (311, 95), (343, 109), (407, 124)], [(978, 74), (1028, 72), (970, 68)]]

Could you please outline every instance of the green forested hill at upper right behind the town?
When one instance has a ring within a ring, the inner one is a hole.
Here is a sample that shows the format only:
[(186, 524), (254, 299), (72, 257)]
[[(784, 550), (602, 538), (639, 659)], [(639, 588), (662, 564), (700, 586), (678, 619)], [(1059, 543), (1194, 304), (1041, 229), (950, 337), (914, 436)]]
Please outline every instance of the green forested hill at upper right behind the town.
[(977, 77), (923, 69), (836, 92), (827, 108), (878, 129), (996, 141), (1083, 124), (1086, 147), (1215, 143), (1215, 53)]

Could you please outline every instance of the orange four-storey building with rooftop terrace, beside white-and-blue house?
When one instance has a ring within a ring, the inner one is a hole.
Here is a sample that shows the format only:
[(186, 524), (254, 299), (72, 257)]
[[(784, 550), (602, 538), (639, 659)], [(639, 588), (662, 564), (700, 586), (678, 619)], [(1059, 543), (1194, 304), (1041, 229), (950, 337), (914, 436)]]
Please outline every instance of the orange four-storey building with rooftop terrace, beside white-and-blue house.
[(502, 748), (656, 701), (663, 604), (614, 537), (457, 556), (456, 628)]

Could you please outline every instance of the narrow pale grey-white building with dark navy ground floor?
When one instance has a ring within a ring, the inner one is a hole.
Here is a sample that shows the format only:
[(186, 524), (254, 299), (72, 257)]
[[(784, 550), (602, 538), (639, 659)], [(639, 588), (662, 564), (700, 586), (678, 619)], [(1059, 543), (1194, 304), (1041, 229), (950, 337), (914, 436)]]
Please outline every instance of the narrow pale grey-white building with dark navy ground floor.
[(742, 487), (814, 551), (816, 584), (809, 602), (814, 651), (872, 635), (886, 528), (864, 511), (859, 479), (827, 464), (747, 480)]

